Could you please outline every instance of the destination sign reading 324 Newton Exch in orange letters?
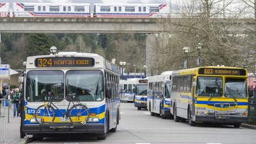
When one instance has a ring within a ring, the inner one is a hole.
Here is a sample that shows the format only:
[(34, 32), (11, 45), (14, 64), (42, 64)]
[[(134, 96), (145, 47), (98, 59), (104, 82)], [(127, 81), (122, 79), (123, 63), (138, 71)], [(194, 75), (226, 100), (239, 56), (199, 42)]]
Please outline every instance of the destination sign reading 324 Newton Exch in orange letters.
[(88, 67), (94, 66), (94, 59), (90, 57), (40, 57), (35, 59), (35, 67)]

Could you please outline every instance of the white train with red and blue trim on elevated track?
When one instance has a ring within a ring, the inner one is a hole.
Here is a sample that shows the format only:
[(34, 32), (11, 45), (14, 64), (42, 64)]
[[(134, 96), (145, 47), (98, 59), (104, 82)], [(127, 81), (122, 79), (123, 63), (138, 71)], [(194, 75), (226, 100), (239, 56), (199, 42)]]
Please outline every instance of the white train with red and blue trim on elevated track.
[(0, 2), (0, 17), (167, 17), (166, 3), (10, 3)]

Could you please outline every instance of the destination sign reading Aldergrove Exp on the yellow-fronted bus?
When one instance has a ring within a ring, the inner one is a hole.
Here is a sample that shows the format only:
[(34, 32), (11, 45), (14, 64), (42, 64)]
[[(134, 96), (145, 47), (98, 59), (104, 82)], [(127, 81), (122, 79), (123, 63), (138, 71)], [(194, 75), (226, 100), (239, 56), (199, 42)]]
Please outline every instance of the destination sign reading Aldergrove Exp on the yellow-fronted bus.
[(227, 68), (200, 68), (199, 74), (246, 76), (246, 70)]

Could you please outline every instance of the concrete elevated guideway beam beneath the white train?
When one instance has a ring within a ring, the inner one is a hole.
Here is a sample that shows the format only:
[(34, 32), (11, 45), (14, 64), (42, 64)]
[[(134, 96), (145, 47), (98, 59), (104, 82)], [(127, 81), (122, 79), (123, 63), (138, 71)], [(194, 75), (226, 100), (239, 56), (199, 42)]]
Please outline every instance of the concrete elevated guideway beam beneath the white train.
[[(186, 18), (0, 18), (0, 33), (163, 33)], [(190, 19), (191, 20), (191, 19)], [(197, 20), (195, 18), (195, 20)], [(228, 24), (229, 31), (246, 33), (254, 19), (212, 19)], [(236, 23), (233, 23), (236, 22)], [(244, 27), (241, 27), (244, 26)]]

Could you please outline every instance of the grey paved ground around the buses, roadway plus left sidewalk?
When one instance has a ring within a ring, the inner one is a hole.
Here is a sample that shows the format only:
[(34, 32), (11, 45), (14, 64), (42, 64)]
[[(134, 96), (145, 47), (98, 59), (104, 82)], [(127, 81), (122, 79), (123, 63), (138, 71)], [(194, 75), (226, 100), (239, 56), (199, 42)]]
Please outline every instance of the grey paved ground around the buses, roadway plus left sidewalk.
[[(5, 143), (122, 143), (122, 144), (242, 144), (256, 143), (256, 130), (251, 128), (233, 128), (221, 125), (197, 125), (177, 123), (171, 119), (152, 117), (147, 110), (137, 111), (132, 103), (122, 103), (121, 121), (117, 132), (108, 133), (106, 140), (99, 141), (87, 134), (78, 136), (61, 135), (56, 138), (44, 138), (33, 141), (31, 136), (19, 138), (20, 119), (5, 118)], [(6, 111), (7, 112), (7, 111)], [(11, 111), (11, 115), (13, 111)], [(3, 143), (3, 118), (0, 118), (0, 143)]]

